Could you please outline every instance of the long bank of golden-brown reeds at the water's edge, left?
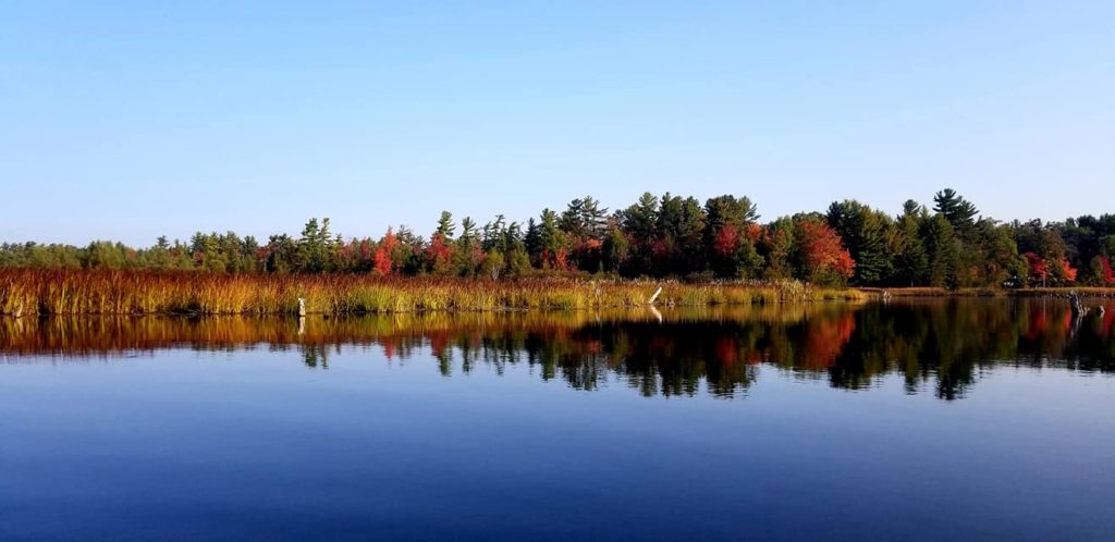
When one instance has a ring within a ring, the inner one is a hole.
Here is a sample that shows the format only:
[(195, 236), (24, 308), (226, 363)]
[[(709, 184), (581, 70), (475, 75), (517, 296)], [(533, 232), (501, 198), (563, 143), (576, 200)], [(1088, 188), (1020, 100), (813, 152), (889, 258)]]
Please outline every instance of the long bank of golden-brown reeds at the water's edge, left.
[(360, 274), (261, 275), (198, 272), (0, 270), (3, 314), (281, 314), (298, 300), (328, 314), (514, 309), (599, 309), (863, 300), (857, 290), (801, 282), (683, 284), (571, 279), (458, 280)]

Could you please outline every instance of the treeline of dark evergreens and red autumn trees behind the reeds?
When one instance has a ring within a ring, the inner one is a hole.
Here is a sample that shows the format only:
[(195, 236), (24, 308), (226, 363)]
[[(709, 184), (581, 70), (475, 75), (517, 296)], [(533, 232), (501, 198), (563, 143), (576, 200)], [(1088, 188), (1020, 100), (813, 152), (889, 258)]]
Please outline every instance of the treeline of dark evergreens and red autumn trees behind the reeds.
[(95, 241), (0, 244), (0, 267), (206, 270), (226, 273), (524, 277), (605, 274), (687, 280), (797, 279), (826, 285), (1115, 285), (1115, 215), (1002, 223), (952, 190), (931, 206), (908, 201), (890, 215), (854, 200), (824, 213), (762, 223), (747, 197), (701, 203), (643, 194), (609, 212), (591, 196), (525, 224), (503, 215), (479, 226), (443, 212), (424, 238), (406, 226), (379, 239), (330, 231), (311, 219), (298, 238), (265, 243), (233, 232), (165, 236), (149, 248)]

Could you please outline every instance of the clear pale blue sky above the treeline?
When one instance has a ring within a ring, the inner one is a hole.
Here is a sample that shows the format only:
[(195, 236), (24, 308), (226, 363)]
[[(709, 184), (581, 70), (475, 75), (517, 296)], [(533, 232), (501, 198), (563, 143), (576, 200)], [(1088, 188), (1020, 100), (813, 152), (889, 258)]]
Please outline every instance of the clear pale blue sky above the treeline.
[(0, 1), (0, 240), (957, 188), (1115, 212), (1115, 2)]

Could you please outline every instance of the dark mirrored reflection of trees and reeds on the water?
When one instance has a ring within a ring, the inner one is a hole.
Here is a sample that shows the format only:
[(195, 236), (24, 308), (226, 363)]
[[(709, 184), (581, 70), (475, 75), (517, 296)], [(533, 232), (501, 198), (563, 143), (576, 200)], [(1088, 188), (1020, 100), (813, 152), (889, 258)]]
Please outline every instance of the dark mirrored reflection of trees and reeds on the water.
[[(745, 394), (759, 364), (843, 389), (901, 375), (911, 394), (956, 399), (997, 366), (1115, 371), (1115, 307), (1075, 318), (1061, 300), (951, 299), (617, 312), (429, 313), (283, 318), (0, 319), (9, 362), (166, 348), (298, 349), (328, 369), (343, 345), (389, 360), (433, 357), (449, 376), (529, 364), (544, 379), (646, 396)], [(33, 356), (33, 357), (29, 357)]]

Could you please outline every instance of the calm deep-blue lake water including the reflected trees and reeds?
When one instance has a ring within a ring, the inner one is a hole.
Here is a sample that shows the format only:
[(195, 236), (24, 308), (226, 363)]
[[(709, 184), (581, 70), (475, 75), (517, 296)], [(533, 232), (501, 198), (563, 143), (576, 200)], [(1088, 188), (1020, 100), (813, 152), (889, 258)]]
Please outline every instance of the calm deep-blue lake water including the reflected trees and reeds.
[(0, 539), (1113, 540), (1115, 306), (0, 319)]

